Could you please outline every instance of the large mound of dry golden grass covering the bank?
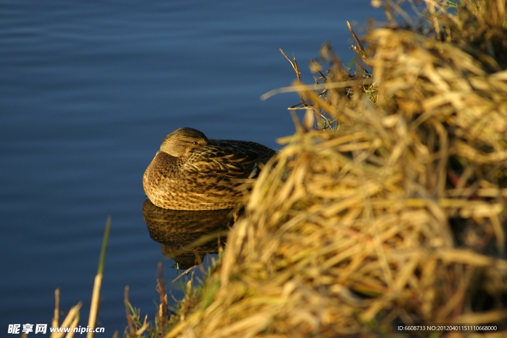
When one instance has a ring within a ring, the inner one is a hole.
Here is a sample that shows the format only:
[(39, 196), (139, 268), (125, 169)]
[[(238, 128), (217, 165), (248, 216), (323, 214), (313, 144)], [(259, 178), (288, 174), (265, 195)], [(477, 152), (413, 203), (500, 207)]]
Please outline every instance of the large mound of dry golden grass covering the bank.
[(295, 83), (303, 122), (166, 338), (505, 325), (505, 4), (424, 3), (425, 24), (369, 31), (364, 68), (324, 46)]

